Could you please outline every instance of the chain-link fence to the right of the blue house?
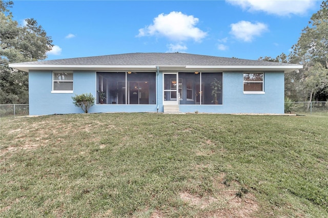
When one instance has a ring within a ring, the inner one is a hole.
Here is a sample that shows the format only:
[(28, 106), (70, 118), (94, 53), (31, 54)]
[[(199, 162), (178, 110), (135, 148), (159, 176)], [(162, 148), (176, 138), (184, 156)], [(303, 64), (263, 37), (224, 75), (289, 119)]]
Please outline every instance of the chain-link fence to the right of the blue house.
[(285, 102), (285, 113), (328, 116), (328, 101)]

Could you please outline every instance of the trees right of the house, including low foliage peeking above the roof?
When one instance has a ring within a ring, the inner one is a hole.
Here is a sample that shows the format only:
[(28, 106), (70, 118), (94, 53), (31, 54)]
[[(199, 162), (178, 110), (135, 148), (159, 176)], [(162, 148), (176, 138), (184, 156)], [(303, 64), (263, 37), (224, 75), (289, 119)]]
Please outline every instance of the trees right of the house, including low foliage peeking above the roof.
[(258, 60), (303, 64), (303, 69), (285, 74), (285, 97), (291, 101), (328, 100), (328, 1), (314, 13), (289, 55)]

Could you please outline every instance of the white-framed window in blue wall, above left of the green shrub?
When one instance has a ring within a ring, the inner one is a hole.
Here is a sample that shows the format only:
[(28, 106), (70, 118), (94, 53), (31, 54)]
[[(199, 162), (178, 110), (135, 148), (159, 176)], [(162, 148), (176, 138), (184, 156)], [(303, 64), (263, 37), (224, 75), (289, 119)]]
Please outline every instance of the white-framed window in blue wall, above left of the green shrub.
[(52, 75), (53, 93), (73, 93), (72, 71), (54, 71)]

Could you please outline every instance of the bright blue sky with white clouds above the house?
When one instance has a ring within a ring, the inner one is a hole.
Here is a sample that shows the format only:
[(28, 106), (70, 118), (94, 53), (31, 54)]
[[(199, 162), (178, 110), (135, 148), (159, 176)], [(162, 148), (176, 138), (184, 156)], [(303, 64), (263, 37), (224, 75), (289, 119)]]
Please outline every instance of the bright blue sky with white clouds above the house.
[(185, 52), (258, 59), (289, 54), (321, 1), (13, 1), (51, 36), (47, 59)]

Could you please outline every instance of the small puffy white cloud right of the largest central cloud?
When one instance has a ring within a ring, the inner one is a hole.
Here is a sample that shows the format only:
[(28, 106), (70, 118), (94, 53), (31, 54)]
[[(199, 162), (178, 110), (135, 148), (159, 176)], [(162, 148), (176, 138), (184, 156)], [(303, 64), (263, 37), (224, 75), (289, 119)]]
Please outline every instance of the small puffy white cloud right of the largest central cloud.
[(236, 24), (231, 24), (231, 31), (234, 37), (239, 40), (251, 42), (255, 36), (260, 36), (263, 32), (268, 31), (268, 26), (263, 23), (252, 24), (250, 21), (241, 20)]

